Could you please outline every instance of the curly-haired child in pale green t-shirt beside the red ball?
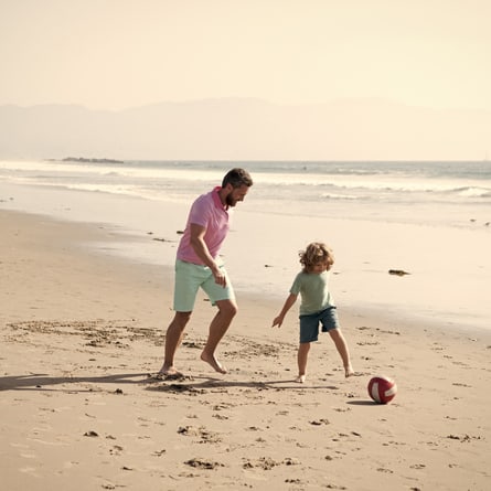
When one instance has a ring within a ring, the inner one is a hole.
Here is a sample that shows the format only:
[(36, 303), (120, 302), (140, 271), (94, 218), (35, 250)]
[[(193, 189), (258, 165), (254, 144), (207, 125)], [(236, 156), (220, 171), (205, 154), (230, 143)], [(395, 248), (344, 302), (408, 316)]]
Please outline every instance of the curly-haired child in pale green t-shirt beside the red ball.
[(341, 332), (334, 300), (329, 292), (329, 270), (334, 264), (332, 250), (322, 243), (313, 242), (306, 250), (299, 253), (303, 269), (295, 278), (290, 295), (279, 314), (273, 320), (273, 327), (281, 327), (285, 316), (297, 301), (300, 293), (300, 345), (298, 348), (298, 377), (296, 382), (306, 381), (307, 357), (310, 343), (319, 337), (319, 323), (322, 332), (329, 332), (343, 361), (344, 375), (354, 375), (350, 352)]

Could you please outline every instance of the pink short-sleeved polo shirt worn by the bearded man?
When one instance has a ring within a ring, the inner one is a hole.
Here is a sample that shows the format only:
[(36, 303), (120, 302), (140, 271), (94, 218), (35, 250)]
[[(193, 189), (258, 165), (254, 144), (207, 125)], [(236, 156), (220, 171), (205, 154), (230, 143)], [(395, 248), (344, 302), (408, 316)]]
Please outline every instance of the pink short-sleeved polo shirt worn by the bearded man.
[(191, 206), (185, 225), (184, 234), (181, 237), (178, 247), (177, 257), (186, 263), (203, 265), (203, 261), (198, 257), (190, 243), (190, 225), (201, 225), (206, 228), (204, 234), (204, 242), (213, 258), (216, 258), (230, 230), (231, 215), (230, 210), (226, 210), (220, 201), (217, 186), (213, 191), (199, 196)]

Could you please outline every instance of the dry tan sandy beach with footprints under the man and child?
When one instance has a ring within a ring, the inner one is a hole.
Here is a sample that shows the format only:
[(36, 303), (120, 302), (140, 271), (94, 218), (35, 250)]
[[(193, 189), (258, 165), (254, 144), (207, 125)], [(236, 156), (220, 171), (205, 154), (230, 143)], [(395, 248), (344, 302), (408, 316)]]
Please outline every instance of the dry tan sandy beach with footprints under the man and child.
[[(357, 376), (321, 337), (301, 385), (296, 313), (270, 328), (281, 300), (241, 293), (218, 375), (201, 298), (185, 377), (157, 380), (171, 269), (87, 247), (116, 241), (100, 225), (0, 211), (0, 231), (3, 490), (490, 488), (490, 331), (341, 310)], [(380, 374), (387, 405), (366, 391)]]

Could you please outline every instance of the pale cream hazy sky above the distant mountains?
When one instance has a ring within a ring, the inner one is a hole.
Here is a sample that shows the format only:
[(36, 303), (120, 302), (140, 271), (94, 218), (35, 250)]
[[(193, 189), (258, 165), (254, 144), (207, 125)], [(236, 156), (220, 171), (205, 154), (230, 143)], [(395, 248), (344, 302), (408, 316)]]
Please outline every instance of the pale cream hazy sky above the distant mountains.
[(490, 0), (0, 0), (0, 104), (491, 110)]

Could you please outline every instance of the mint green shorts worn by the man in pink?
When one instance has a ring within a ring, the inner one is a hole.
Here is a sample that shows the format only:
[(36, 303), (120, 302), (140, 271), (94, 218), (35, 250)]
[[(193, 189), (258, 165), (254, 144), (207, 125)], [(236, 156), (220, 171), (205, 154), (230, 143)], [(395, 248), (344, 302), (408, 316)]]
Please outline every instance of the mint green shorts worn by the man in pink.
[(177, 312), (192, 312), (198, 290), (203, 288), (212, 306), (220, 300), (235, 300), (227, 271), (224, 266), (220, 269), (225, 275), (226, 286), (216, 285), (212, 270), (207, 266), (175, 260), (174, 310)]

